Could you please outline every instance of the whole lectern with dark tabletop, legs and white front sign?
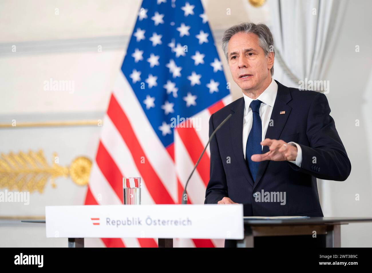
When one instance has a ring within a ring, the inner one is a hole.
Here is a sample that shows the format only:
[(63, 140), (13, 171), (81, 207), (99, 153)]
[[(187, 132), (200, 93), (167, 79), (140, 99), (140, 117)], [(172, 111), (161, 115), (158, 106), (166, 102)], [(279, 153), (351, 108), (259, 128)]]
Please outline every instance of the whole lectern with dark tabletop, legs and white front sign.
[(159, 238), (158, 247), (173, 247), (173, 238), (225, 238), (237, 240), (237, 247), (254, 247), (254, 237), (311, 236), (314, 231), (325, 235), (326, 247), (341, 247), (341, 225), (372, 222), (362, 217), (257, 219), (243, 217), (241, 204), (52, 206), (46, 211), (47, 220), (22, 222), (47, 224), (47, 237), (58, 231), (58, 237), (68, 238), (68, 247), (84, 247), (88, 237)]

